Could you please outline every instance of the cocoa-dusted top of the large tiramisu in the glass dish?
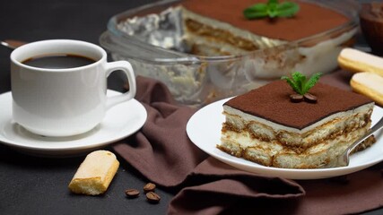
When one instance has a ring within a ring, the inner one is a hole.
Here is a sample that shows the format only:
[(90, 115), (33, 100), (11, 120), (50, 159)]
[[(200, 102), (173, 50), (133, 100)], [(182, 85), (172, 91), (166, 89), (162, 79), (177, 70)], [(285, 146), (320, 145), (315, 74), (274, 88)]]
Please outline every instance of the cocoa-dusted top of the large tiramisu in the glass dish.
[(243, 10), (260, 2), (266, 3), (261, 0), (187, 0), (182, 4), (192, 12), (230, 23), (239, 29), (267, 38), (287, 41), (303, 39), (350, 21), (334, 10), (304, 2), (297, 2), (300, 4), (300, 11), (292, 18), (276, 18), (273, 21), (268, 18), (246, 19), (242, 13)]

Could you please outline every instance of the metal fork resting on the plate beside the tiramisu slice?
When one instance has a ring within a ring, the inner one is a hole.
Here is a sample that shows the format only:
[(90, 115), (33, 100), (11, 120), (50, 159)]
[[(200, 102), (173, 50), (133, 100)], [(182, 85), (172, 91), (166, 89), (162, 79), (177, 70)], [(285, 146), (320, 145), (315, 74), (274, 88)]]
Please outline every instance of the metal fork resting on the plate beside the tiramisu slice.
[(353, 142), (352, 145), (347, 147), (346, 150), (342, 154), (339, 154), (337, 157), (334, 159), (331, 159), (330, 162), (324, 167), (324, 168), (341, 168), (341, 167), (346, 167), (350, 163), (350, 153), (359, 145), (361, 142), (365, 141), (367, 138), (372, 135), (372, 133), (375, 133), (379, 131), (383, 127), (383, 117), (380, 118), (379, 122), (372, 126), (370, 128), (370, 131), (366, 133), (364, 136), (362, 136), (360, 139), (357, 141)]

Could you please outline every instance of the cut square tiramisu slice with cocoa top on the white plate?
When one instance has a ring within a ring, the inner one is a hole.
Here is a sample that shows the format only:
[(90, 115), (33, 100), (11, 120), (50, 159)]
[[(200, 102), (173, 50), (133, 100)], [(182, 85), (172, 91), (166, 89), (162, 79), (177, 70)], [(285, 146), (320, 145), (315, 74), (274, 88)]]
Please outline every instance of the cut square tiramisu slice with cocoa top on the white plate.
[(364, 96), (323, 83), (310, 90), (316, 103), (292, 102), (293, 93), (276, 81), (224, 103), (217, 147), (265, 166), (321, 168), (370, 129), (374, 102)]

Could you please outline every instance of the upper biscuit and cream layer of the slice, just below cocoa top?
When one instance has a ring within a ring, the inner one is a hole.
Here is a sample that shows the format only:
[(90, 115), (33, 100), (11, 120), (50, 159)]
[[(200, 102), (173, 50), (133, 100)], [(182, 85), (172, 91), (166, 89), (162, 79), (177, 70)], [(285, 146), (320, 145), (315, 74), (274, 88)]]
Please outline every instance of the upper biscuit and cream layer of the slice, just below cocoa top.
[(374, 103), (368, 103), (348, 111), (338, 112), (300, 130), (249, 115), (230, 106), (223, 106), (226, 121), (223, 124), (222, 134), (225, 135), (229, 130), (235, 133), (244, 131), (253, 141), (254, 139), (277, 141), (301, 150), (338, 134), (365, 127), (370, 123), (373, 107)]

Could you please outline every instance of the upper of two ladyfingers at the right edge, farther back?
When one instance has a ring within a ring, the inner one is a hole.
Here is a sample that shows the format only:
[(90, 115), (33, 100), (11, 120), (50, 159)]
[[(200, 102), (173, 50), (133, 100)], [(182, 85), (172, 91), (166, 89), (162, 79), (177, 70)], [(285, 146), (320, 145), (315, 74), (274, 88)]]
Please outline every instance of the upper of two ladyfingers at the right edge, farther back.
[(383, 76), (383, 58), (346, 47), (338, 56), (339, 66), (353, 73), (371, 72)]

